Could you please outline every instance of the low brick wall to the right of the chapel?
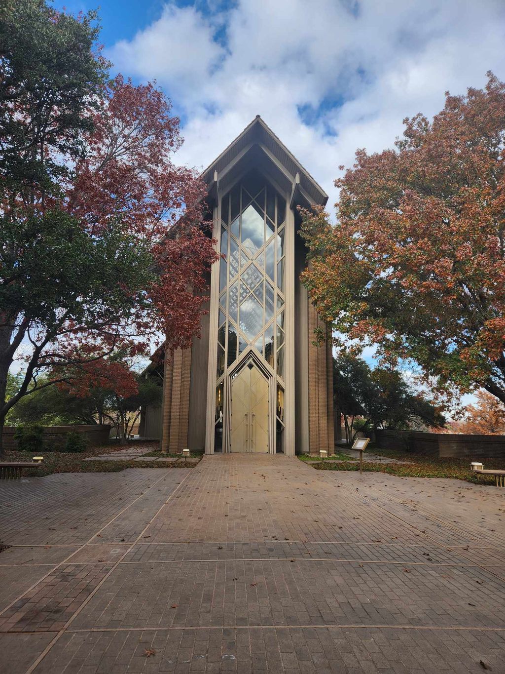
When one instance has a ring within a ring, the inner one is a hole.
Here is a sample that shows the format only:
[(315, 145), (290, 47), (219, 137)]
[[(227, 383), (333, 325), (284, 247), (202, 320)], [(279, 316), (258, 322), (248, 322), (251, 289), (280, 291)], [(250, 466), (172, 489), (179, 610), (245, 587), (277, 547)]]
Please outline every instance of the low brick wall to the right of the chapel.
[(457, 435), (415, 431), (375, 431), (376, 446), (442, 458), (503, 459), (505, 435)]

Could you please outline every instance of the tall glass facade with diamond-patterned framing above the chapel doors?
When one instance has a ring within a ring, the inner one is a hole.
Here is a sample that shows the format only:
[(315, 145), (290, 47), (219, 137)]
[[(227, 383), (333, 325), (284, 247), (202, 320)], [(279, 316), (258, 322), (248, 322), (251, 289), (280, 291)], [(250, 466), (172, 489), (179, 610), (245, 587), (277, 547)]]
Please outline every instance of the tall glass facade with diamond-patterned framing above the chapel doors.
[[(256, 171), (222, 197), (220, 250), (226, 257), (220, 261), (219, 274), (218, 395), (222, 396), (228, 368), (250, 347), (274, 371), (277, 396), (279, 390), (283, 396), (285, 214), (285, 198)], [(283, 405), (276, 408), (283, 410)], [(222, 434), (223, 414), (221, 406), (216, 439)], [(283, 411), (276, 416), (279, 435)]]

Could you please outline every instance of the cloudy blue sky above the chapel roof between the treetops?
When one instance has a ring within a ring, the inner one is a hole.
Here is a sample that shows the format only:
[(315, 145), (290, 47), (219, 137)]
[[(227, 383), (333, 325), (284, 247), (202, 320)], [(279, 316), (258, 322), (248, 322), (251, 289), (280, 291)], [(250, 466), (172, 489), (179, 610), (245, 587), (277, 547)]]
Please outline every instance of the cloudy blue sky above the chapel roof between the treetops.
[(238, 0), (220, 13), (169, 3), (108, 56), (172, 96), (181, 160), (206, 166), (260, 114), (331, 206), (356, 148), (393, 146), (403, 117), (433, 115), (445, 90), (483, 86), (488, 69), (505, 78), (504, 38), (500, 0)]

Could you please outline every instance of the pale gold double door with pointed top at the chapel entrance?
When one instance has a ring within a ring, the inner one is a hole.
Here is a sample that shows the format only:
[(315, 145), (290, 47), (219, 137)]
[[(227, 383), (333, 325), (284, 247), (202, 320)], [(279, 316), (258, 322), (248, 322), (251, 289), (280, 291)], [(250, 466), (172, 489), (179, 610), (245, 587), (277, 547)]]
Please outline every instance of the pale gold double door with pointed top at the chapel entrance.
[(269, 383), (251, 359), (232, 378), (230, 452), (269, 450)]

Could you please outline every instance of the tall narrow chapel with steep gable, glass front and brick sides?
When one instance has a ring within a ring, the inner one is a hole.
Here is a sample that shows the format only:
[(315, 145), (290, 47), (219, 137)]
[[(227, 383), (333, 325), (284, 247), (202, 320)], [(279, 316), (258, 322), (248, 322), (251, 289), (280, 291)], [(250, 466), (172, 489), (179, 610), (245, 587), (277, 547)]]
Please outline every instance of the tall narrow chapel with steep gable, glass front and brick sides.
[(202, 174), (213, 237), (201, 337), (158, 368), (163, 401), (141, 435), (165, 452), (334, 452), (331, 343), (300, 274), (298, 206), (327, 194), (259, 115)]

